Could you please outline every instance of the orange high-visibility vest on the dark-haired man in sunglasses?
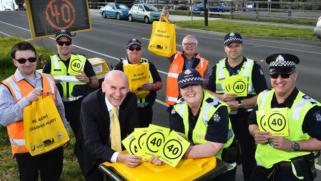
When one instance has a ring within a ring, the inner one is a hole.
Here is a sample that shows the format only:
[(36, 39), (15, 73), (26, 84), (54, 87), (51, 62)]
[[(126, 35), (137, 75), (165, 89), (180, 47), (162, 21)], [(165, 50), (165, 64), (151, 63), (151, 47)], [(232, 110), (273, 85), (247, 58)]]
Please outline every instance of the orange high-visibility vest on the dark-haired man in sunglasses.
[[(40, 75), (42, 77), (42, 97), (44, 98), (50, 95), (53, 101), (55, 101), (55, 80), (50, 74), (41, 73)], [(12, 96), (17, 100), (17, 102), (35, 89), (25, 80), (17, 82), (14, 75), (2, 81), (2, 84), (10, 90)], [(7, 130), (12, 148), (12, 156), (14, 157), (16, 153), (29, 152), (25, 147), (23, 120), (16, 121), (7, 126)]]

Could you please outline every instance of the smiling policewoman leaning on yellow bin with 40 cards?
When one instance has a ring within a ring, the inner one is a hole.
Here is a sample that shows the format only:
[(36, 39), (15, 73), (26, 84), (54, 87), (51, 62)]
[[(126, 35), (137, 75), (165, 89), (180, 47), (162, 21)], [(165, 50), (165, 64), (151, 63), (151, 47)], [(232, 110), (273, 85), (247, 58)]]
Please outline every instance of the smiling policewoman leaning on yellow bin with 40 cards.
[[(174, 104), (170, 128), (193, 144), (184, 158), (216, 156), (222, 159), (222, 149), (229, 147), (234, 138), (229, 120), (230, 109), (226, 103), (204, 91), (202, 80), (195, 69), (187, 69), (178, 75), (182, 98)], [(157, 160), (150, 159), (150, 162)], [(235, 163), (229, 164), (229, 171), (215, 180), (234, 181), (235, 166)]]

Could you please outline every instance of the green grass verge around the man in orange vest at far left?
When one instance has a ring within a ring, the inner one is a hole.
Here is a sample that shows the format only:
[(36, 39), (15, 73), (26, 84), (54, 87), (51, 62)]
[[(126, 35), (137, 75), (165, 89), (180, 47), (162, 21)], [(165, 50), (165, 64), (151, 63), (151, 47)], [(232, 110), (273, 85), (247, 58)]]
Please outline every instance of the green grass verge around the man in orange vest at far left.
[[(10, 51), (13, 45), (22, 42), (24, 39), (16, 37), (0, 37), (0, 80), (8, 78), (14, 74), (16, 67), (12, 63)], [(37, 54), (44, 55), (48, 59), (49, 55), (55, 54), (54, 50), (33, 44), (36, 48)], [(40, 68), (40, 63), (38, 63)], [(75, 136), (71, 128), (71, 143), (68, 148), (64, 150), (63, 171), (60, 181), (83, 181), (78, 160), (74, 155)], [(8, 140), (7, 129), (0, 126), (0, 181), (18, 181), (19, 171), (16, 160), (12, 158), (11, 146)], [(39, 179), (40, 180), (40, 179)]]

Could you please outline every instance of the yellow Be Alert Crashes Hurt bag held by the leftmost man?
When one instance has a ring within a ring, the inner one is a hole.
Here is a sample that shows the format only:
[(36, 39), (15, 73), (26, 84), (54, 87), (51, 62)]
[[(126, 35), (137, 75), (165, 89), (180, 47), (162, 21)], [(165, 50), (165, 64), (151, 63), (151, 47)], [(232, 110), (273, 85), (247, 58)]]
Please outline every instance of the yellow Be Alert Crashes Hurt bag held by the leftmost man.
[(39, 97), (23, 112), (25, 146), (32, 156), (39, 155), (69, 140), (51, 96)]

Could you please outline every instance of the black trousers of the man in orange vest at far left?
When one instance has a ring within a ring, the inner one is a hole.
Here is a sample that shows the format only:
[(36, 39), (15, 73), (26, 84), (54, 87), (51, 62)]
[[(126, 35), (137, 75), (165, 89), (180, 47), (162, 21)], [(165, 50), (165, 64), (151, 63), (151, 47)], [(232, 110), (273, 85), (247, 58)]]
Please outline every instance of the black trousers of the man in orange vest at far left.
[(19, 169), (20, 181), (58, 181), (62, 172), (64, 149), (62, 147), (41, 155), (31, 156), (30, 153), (15, 155)]

